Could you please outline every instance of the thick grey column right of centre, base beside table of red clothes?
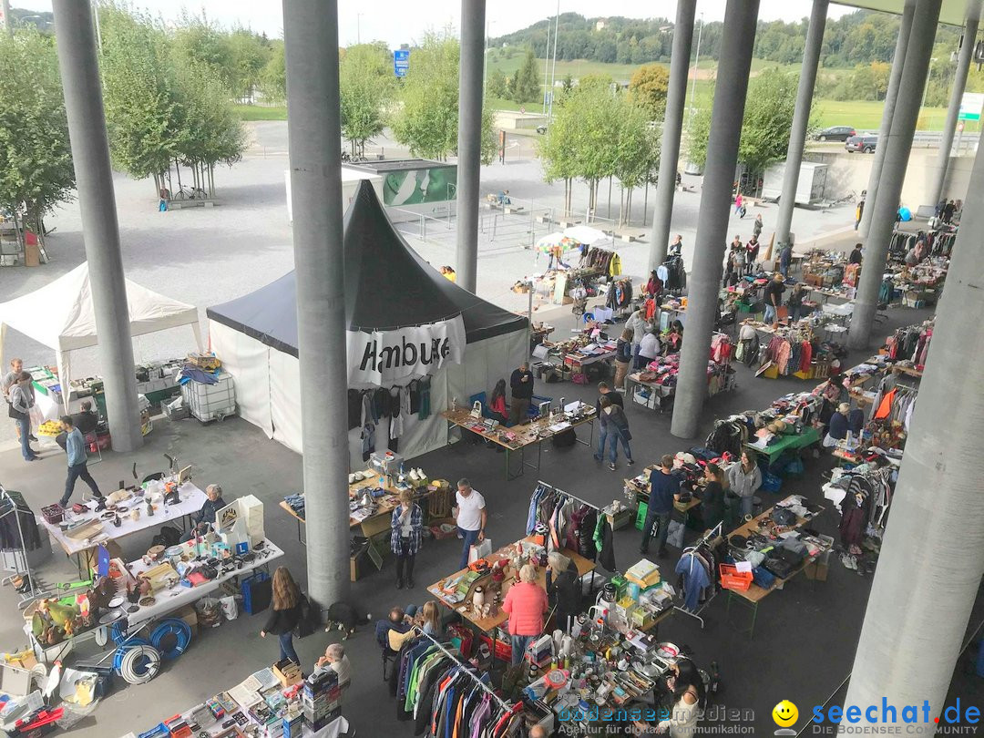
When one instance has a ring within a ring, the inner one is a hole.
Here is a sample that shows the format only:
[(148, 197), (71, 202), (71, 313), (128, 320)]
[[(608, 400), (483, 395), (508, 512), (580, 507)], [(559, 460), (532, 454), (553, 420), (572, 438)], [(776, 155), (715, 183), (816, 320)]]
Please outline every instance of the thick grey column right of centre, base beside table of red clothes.
[(687, 323), (670, 433), (693, 438), (707, 398), (707, 356), (717, 313), (717, 290), (723, 270), (731, 215), (731, 188), (738, 161), (738, 141), (745, 116), (745, 95), (752, 68), (759, 0), (728, 0), (710, 113), (707, 164), (698, 215), (694, 265), (688, 279)]

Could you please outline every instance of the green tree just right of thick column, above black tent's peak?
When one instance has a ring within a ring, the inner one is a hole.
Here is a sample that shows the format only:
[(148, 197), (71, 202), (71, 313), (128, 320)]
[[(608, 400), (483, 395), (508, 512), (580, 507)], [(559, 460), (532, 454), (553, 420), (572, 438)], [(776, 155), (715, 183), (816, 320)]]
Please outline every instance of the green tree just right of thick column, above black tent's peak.
[(386, 111), (394, 94), (393, 57), (382, 43), (349, 46), (338, 70), (341, 135), (352, 154), (365, 154), (366, 142), (386, 126)]

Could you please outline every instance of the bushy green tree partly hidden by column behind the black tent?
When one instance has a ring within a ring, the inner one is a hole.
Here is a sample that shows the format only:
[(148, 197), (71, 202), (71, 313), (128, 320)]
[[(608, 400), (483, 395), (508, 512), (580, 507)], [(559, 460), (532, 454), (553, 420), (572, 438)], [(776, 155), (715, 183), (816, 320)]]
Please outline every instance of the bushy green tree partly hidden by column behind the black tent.
[[(414, 156), (447, 159), (458, 151), (458, 38), (450, 32), (429, 32), (412, 53), (403, 78), (402, 108), (393, 117), (393, 134)], [(492, 109), (482, 107), (482, 161), (496, 152)]]

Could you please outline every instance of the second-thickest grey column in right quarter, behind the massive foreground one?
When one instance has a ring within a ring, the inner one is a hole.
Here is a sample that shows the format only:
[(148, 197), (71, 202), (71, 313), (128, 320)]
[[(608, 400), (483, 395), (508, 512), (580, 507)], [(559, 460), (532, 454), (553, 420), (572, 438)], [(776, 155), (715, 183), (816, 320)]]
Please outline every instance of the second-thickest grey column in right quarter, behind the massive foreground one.
[(865, 239), (864, 266), (861, 269), (854, 314), (851, 317), (849, 344), (851, 348), (865, 348), (871, 337), (875, 313), (878, 311), (878, 290), (882, 285), (889, 240), (898, 212), (898, 198), (905, 181), (909, 164), (912, 137), (919, 118), (922, 91), (929, 74), (929, 60), (940, 20), (942, 0), (917, 0), (912, 17), (912, 31), (905, 51), (905, 66), (898, 84), (898, 99), (892, 117), (892, 131), (888, 139), (880, 139), (878, 148), (885, 149), (881, 186), (874, 212), (871, 214), (871, 230)]

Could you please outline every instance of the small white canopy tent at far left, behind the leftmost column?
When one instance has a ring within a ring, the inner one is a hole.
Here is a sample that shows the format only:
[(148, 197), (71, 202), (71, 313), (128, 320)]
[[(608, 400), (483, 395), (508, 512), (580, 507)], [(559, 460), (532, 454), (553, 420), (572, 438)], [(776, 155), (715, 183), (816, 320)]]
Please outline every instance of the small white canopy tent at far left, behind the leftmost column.
[[(194, 305), (165, 297), (130, 279), (126, 280), (126, 296), (131, 337), (191, 326), (201, 350), (198, 308)], [(8, 327), (53, 349), (59, 382), (63, 388), (68, 387), (72, 378), (72, 351), (99, 342), (95, 333), (89, 263), (83, 262), (67, 275), (30, 294), (0, 303), (0, 366), (3, 366), (3, 344)], [(63, 396), (68, 400), (66, 392)]]

